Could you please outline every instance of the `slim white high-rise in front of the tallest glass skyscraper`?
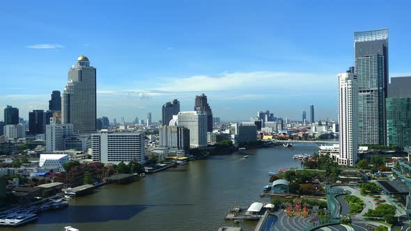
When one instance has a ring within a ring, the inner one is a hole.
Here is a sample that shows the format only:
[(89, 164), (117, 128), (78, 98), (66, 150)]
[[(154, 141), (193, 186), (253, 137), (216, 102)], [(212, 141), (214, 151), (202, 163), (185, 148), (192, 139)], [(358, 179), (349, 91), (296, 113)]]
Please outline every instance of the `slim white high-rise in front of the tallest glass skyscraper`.
[(339, 77), (339, 164), (355, 166), (358, 157), (357, 75)]

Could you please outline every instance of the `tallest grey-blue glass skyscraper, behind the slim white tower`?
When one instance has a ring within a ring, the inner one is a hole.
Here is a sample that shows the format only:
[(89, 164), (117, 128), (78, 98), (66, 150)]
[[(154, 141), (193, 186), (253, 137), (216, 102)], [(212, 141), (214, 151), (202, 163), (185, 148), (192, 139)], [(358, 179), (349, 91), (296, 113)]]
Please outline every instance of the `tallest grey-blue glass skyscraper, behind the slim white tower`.
[(354, 33), (359, 143), (387, 143), (388, 29)]

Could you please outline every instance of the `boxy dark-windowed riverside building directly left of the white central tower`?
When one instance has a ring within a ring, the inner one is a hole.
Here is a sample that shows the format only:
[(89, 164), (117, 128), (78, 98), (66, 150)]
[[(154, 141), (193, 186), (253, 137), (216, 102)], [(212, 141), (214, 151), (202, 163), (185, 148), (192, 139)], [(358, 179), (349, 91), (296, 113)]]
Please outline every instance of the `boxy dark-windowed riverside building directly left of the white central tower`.
[(160, 146), (189, 150), (189, 129), (178, 126), (160, 126)]

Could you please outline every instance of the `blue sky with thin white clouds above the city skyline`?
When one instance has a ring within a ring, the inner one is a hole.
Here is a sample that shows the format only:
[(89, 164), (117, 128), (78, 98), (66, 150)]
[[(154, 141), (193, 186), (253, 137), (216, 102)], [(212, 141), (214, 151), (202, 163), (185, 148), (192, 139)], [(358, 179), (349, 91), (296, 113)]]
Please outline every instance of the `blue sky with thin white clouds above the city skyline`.
[[(408, 1), (5, 1), (0, 106), (28, 118), (85, 55), (98, 73), (98, 116), (160, 120), (164, 102), (215, 116), (256, 111), (337, 116), (337, 78), (353, 65), (354, 31), (389, 29), (390, 77), (411, 74)], [(308, 114), (308, 113), (307, 113)], [(0, 110), (0, 120), (3, 110)]]

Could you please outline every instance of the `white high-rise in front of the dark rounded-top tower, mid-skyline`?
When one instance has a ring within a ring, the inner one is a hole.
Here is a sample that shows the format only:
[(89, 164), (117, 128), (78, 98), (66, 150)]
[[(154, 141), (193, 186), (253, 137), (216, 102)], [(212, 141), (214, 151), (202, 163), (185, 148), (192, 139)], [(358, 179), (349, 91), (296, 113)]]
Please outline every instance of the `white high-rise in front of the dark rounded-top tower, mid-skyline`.
[(206, 113), (202, 113), (201, 111), (180, 111), (177, 115), (176, 124), (189, 129), (190, 147), (207, 147), (208, 125)]

